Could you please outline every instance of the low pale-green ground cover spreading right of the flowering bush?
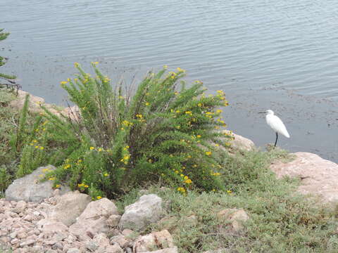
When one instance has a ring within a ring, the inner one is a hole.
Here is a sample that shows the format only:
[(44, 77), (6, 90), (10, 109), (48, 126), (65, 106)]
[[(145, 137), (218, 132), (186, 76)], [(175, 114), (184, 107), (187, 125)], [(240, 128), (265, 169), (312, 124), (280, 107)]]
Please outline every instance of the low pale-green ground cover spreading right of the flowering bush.
[[(337, 211), (296, 193), (298, 181), (275, 179), (268, 164), (277, 157), (292, 159), (282, 150), (229, 157), (223, 177), (231, 177), (225, 181), (233, 181), (227, 183), (232, 193), (192, 190), (182, 195), (171, 189), (150, 188), (149, 193), (170, 202), (170, 210), (165, 222), (149, 226), (144, 233), (168, 229), (181, 253), (219, 248), (230, 252), (337, 252)], [(118, 206), (121, 209), (138, 197), (134, 191)], [(227, 208), (243, 208), (249, 214), (242, 234), (220, 232), (216, 214)]]

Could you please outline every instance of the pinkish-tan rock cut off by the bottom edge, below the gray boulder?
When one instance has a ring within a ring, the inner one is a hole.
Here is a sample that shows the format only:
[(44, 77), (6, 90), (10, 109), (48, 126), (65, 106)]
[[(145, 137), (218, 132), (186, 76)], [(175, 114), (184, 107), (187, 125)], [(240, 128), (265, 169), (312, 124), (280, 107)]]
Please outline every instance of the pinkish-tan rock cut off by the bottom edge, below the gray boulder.
[(173, 237), (166, 230), (140, 236), (134, 243), (133, 252), (149, 252), (154, 249), (174, 247)]

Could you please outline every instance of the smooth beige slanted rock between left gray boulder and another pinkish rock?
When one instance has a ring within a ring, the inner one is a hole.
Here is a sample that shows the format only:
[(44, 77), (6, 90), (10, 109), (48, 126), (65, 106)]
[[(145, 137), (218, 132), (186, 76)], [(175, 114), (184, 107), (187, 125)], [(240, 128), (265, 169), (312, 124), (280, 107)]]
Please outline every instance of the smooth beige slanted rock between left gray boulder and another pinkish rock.
[(91, 198), (87, 194), (70, 192), (62, 195), (58, 204), (54, 207), (49, 219), (61, 221), (65, 226), (70, 226), (75, 219), (82, 214)]

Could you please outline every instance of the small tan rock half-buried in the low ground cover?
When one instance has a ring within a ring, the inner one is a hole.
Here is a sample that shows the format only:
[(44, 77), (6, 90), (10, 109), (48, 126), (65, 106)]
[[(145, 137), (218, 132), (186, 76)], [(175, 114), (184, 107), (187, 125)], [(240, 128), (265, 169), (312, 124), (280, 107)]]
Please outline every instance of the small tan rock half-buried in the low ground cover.
[[(249, 219), (248, 214), (243, 209), (224, 209), (217, 214), (220, 221), (225, 221), (225, 224), (220, 223), (220, 230), (228, 230), (240, 232), (244, 229), (242, 223)], [(225, 229), (224, 229), (225, 228)]]

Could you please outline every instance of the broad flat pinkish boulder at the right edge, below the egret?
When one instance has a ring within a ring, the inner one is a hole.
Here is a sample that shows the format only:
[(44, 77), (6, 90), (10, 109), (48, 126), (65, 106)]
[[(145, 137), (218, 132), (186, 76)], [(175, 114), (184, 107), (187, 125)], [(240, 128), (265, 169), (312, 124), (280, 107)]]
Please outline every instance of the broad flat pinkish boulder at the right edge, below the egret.
[(277, 178), (283, 176), (301, 179), (298, 190), (302, 194), (318, 195), (327, 203), (338, 202), (338, 164), (312, 153), (294, 153), (292, 162), (271, 164)]

